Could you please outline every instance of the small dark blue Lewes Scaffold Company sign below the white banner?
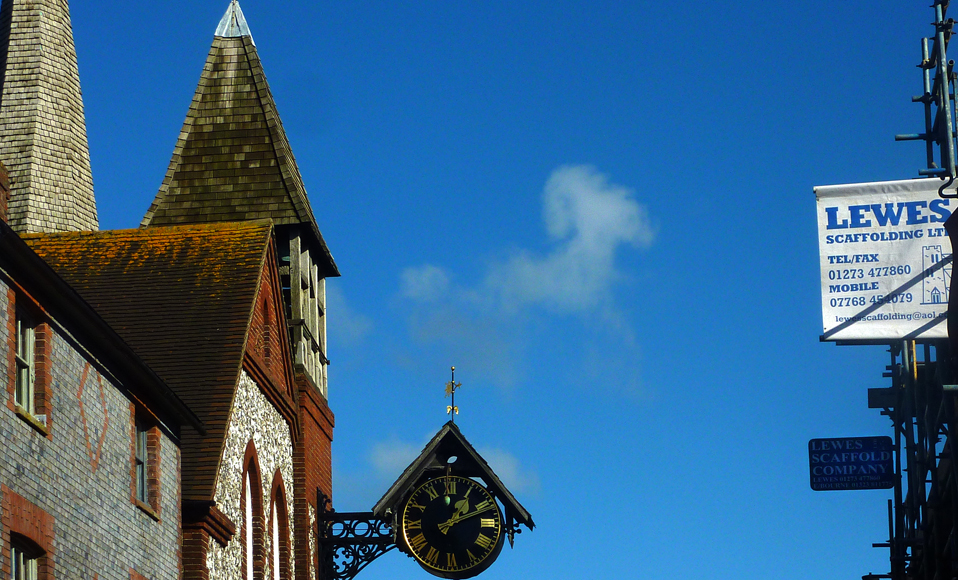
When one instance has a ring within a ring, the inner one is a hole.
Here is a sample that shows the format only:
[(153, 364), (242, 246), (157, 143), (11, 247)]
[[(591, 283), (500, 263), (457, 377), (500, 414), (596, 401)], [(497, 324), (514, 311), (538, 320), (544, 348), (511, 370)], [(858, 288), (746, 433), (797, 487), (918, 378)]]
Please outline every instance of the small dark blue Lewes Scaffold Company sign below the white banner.
[(891, 437), (812, 439), (808, 471), (815, 491), (895, 487)]

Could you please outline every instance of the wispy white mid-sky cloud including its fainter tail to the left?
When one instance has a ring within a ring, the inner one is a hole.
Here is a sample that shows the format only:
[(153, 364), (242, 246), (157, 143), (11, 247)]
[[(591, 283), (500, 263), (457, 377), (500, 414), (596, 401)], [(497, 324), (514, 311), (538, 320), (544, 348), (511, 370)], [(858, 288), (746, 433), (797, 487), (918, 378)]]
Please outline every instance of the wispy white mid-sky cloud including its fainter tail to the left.
[[(548, 322), (549, 314), (560, 314), (581, 316), (583, 327), (590, 327), (585, 334), (618, 345), (612, 362), (634, 366), (635, 332), (614, 297), (632, 276), (622, 266), (623, 250), (646, 248), (655, 238), (645, 206), (634, 190), (594, 167), (564, 166), (546, 181), (542, 216), (547, 249), (514, 250), (489, 263), (475, 285), (458, 284), (452, 272), (435, 264), (402, 271), (400, 293), (407, 300), (411, 337), (429, 345), (422, 356), (455, 360), (472, 369), (474, 378), (509, 388), (523, 376), (517, 361), (525, 358), (531, 329)], [(581, 340), (584, 333), (578, 336)], [(577, 350), (588, 347), (580, 344)], [(637, 376), (629, 380), (634, 391)]]

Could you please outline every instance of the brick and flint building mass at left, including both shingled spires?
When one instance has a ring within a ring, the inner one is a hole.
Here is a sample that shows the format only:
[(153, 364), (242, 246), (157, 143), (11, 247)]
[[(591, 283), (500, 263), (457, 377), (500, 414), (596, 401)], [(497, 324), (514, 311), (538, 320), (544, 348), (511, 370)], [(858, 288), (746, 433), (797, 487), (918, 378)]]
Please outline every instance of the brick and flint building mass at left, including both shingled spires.
[(2, 573), (314, 578), (339, 272), (236, 0), (140, 228), (97, 231), (67, 0), (0, 4), (0, 162)]

